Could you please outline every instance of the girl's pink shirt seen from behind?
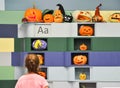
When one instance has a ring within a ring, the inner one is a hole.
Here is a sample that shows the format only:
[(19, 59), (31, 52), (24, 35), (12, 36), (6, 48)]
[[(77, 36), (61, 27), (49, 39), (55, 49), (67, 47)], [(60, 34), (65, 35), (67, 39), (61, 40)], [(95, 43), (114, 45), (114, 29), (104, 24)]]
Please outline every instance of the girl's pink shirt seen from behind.
[(38, 74), (26, 74), (19, 78), (15, 88), (44, 88), (48, 86), (45, 78)]

